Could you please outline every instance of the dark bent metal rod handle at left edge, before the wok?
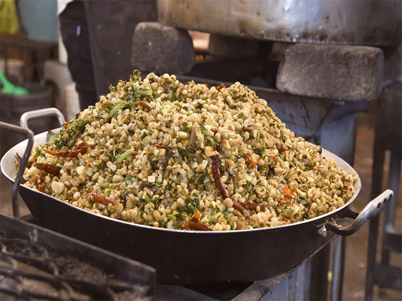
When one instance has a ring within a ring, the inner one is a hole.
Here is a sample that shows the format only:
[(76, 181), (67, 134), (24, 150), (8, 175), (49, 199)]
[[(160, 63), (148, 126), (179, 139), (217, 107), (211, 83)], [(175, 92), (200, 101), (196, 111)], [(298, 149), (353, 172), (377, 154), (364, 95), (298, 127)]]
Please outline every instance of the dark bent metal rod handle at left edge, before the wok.
[[(17, 173), (16, 181), (13, 185), (13, 215), (20, 217), (20, 206), (18, 204), (18, 192), (20, 190), (20, 183), (24, 175), (24, 170), (27, 167), (29, 156), (31, 155), (32, 146), (34, 145), (34, 132), (29, 128), (22, 128), (14, 124), (0, 121), (0, 128), (14, 131), (19, 134), (23, 134), (28, 138), (27, 148), (25, 149), (24, 156), (20, 162), (20, 168)], [(17, 155), (17, 154), (16, 154)]]

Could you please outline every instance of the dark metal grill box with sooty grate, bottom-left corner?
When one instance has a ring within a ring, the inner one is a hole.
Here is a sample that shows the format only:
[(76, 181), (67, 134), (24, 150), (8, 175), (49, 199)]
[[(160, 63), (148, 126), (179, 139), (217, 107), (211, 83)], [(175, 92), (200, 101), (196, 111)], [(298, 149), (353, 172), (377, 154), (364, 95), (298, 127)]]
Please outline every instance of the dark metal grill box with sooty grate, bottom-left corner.
[(155, 296), (155, 274), (149, 267), (14, 218), (2, 215), (1, 222), (1, 300)]

